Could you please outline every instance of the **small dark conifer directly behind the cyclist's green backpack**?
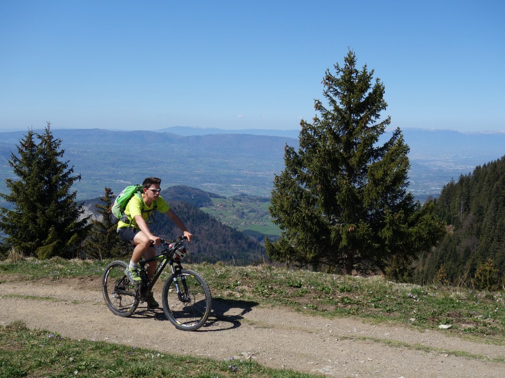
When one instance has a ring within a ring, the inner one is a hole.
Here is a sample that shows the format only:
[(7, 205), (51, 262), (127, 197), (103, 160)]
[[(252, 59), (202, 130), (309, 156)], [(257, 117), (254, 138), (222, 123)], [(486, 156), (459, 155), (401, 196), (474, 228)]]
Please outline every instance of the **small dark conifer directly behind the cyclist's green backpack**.
[(84, 242), (84, 252), (87, 257), (94, 259), (117, 258), (131, 250), (121, 241), (116, 230), (118, 220), (109, 211), (114, 202), (114, 193), (106, 187), (104, 197), (100, 197), (102, 204), (96, 204), (99, 219), (91, 220), (91, 230)]

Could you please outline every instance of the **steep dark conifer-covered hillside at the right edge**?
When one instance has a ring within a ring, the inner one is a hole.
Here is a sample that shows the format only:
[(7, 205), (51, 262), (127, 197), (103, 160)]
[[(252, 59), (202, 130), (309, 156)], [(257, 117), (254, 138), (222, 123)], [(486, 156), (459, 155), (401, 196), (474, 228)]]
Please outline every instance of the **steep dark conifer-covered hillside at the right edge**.
[(505, 156), (446, 184), (435, 212), (448, 232), (421, 259), (420, 280), (470, 282), (487, 266), (499, 281), (505, 270)]

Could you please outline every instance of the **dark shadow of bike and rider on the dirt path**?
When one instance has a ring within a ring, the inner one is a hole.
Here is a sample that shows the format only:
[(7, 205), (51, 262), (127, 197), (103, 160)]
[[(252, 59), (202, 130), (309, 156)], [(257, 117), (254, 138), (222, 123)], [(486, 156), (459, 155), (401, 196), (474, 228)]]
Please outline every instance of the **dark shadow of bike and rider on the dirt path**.
[[(240, 327), (244, 315), (252, 311), (252, 307), (258, 304), (258, 302), (249, 300), (214, 298), (212, 300), (212, 309), (209, 314), (209, 319), (203, 327), (195, 332), (216, 332)], [(150, 310), (139, 307), (132, 315), (132, 318), (168, 321), (162, 308)]]

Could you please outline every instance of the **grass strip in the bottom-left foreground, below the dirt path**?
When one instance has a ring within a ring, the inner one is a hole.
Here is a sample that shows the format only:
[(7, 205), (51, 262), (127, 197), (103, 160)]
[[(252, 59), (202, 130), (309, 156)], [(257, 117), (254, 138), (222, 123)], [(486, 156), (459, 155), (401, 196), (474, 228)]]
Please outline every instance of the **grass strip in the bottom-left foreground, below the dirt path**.
[(25, 376), (310, 378), (318, 375), (271, 369), (251, 360), (213, 360), (71, 340), (44, 330), (29, 330), (23, 323), (0, 326), (0, 378)]

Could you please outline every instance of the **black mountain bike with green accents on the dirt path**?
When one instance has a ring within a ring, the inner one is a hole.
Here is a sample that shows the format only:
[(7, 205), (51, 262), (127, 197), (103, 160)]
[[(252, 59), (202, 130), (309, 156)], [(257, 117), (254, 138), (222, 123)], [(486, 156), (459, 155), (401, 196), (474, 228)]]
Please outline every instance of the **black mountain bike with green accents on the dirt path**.
[[(153, 258), (140, 260), (140, 284), (133, 284), (125, 275), (128, 264), (113, 261), (106, 268), (102, 277), (102, 291), (109, 309), (120, 317), (130, 317), (140, 303), (147, 299), (166, 265), (172, 274), (163, 285), (163, 310), (175, 328), (194, 331), (204, 325), (211, 310), (212, 297), (209, 285), (203, 277), (190, 269), (183, 269), (181, 260), (186, 254), (185, 242), (180, 236), (176, 240), (162, 239), (162, 251)], [(145, 265), (159, 262), (151, 280), (147, 277)]]

